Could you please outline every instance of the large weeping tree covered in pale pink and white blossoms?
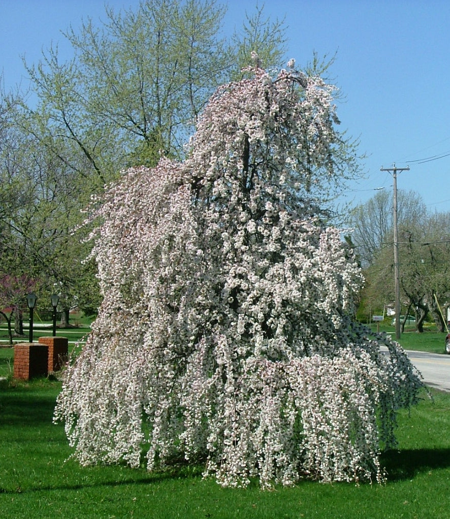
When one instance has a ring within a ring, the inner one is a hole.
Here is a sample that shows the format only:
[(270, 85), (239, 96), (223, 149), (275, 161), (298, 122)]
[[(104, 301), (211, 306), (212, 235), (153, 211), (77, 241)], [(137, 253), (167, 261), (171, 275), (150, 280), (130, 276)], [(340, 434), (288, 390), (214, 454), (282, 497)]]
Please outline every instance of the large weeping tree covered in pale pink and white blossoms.
[(334, 87), (293, 62), (247, 73), (183, 163), (127, 171), (92, 215), (103, 303), (55, 418), (83, 465), (146, 452), (226, 486), (383, 481), (421, 381), (354, 322), (361, 271), (315, 203), (351, 167)]

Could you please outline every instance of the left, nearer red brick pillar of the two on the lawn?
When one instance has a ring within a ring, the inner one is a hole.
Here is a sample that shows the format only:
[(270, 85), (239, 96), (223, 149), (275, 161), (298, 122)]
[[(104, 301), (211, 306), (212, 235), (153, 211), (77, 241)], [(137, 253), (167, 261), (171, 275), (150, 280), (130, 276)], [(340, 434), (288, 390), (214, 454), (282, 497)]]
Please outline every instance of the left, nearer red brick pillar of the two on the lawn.
[(30, 380), (47, 376), (48, 348), (39, 343), (18, 343), (14, 347), (14, 378)]

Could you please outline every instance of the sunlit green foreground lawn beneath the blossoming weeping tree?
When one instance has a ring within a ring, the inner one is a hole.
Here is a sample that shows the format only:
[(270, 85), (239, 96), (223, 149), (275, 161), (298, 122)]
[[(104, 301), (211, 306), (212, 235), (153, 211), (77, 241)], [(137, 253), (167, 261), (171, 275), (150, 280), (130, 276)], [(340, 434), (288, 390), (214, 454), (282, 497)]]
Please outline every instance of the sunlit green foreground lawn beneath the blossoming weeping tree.
[(386, 485), (321, 484), (261, 491), (222, 488), (201, 468), (148, 473), (123, 466), (83, 468), (67, 458), (52, 424), (60, 383), (0, 389), (0, 516), (82, 518), (433, 518), (448, 517), (450, 394), (433, 391), (400, 413), (399, 448), (383, 455)]

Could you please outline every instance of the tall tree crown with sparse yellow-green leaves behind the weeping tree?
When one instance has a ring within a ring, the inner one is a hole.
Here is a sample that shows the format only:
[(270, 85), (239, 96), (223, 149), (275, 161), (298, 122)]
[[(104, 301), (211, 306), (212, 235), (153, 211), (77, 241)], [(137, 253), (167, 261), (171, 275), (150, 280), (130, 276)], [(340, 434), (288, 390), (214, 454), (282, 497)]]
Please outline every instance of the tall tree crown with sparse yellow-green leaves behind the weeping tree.
[(74, 154), (67, 162), (102, 185), (140, 148), (182, 154), (196, 115), (229, 69), (217, 36), (223, 14), (215, 2), (147, 0), (135, 12), (107, 8), (100, 26), (88, 19), (67, 31), (70, 62), (50, 48), (27, 67), (50, 151), (58, 153), (52, 145), (62, 136), (86, 159)]

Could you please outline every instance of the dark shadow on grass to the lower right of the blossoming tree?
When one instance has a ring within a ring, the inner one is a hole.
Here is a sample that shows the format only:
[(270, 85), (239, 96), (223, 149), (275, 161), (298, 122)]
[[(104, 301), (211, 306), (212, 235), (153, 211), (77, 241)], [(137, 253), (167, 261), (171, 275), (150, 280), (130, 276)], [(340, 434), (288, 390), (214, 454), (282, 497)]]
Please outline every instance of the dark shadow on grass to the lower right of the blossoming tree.
[(388, 450), (380, 463), (386, 468), (388, 482), (410, 480), (420, 472), (450, 468), (450, 448)]

